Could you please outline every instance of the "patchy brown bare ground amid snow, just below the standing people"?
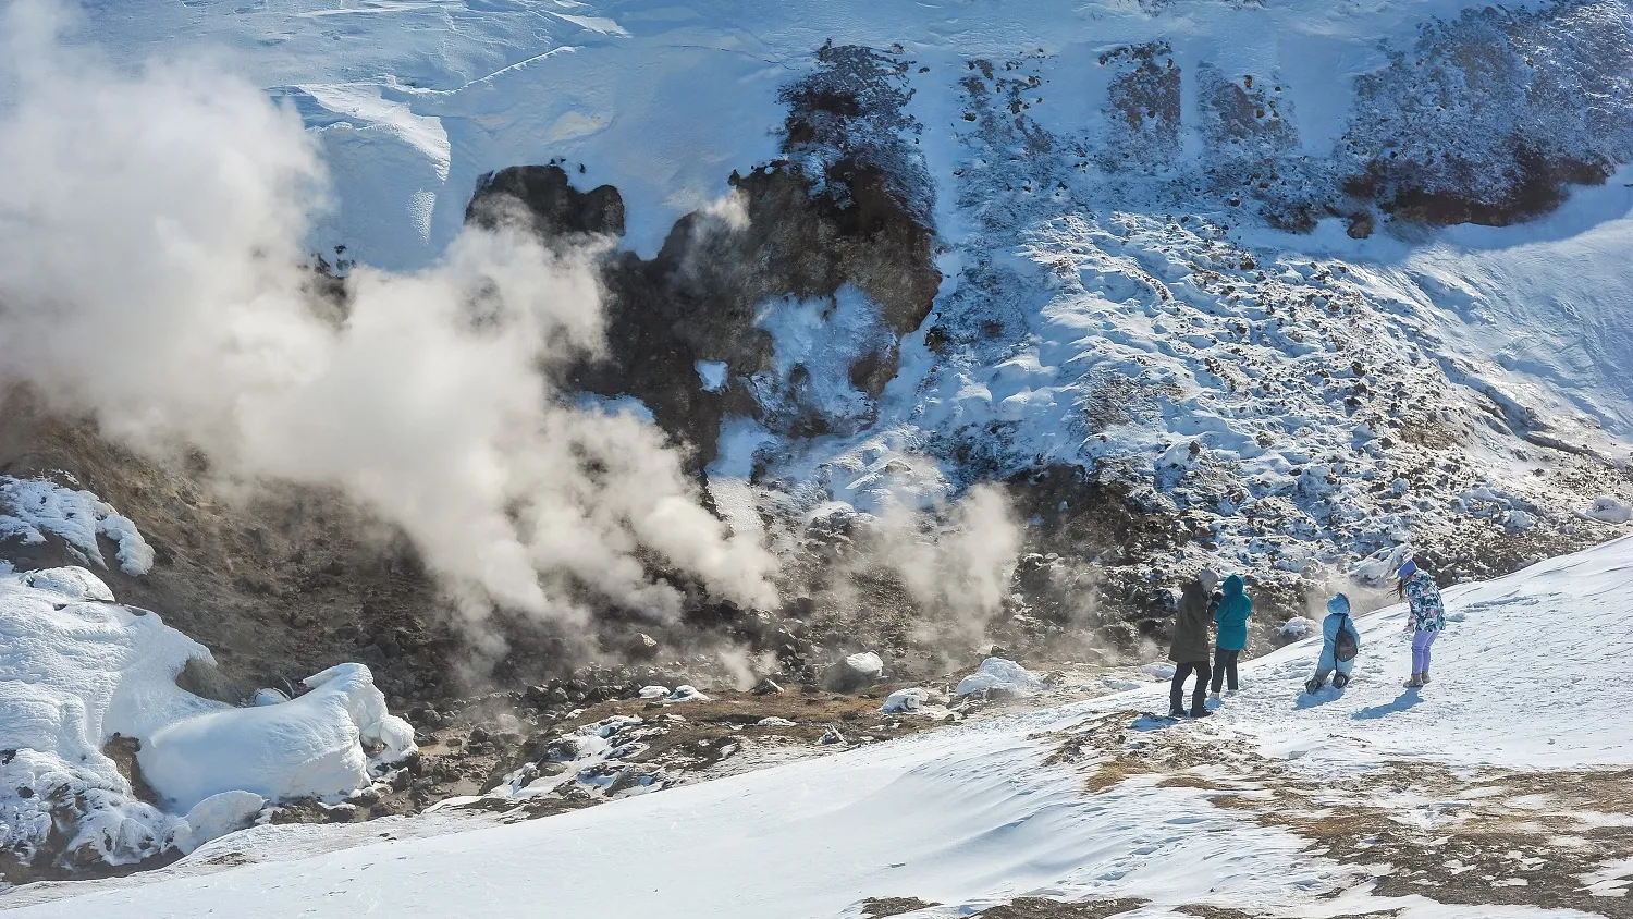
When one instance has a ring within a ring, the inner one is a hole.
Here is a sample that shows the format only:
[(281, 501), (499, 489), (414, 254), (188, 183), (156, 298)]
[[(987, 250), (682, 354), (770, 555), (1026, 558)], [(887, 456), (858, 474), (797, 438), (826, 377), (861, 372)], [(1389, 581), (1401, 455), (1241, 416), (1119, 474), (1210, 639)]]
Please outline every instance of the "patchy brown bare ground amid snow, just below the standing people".
[(1089, 795), (1140, 774), (1158, 775), (1159, 787), (1212, 792), (1204, 797), (1215, 806), (1308, 839), (1313, 855), (1364, 867), (1378, 896), (1633, 919), (1633, 899), (1595, 895), (1584, 880), (1633, 857), (1633, 770), (1470, 774), (1393, 762), (1315, 779), (1208, 730), (1140, 728), (1137, 712), (1096, 717), (1061, 731), (1047, 762), (1083, 770)]

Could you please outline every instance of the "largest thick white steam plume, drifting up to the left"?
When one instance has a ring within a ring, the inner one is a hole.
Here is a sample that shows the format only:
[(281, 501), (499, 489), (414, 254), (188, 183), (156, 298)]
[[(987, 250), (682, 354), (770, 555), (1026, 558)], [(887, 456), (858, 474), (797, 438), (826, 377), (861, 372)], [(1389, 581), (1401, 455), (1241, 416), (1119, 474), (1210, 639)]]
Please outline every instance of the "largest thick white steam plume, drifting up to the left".
[(299, 268), (325, 206), (299, 118), (199, 64), (116, 72), (59, 28), (36, 3), (0, 23), (0, 385), (229, 478), (338, 485), (472, 615), (673, 615), (648, 553), (774, 602), (771, 557), (702, 509), (658, 429), (552, 387), (601, 348), (593, 253), (470, 230), (428, 271), (358, 268), (335, 320)]

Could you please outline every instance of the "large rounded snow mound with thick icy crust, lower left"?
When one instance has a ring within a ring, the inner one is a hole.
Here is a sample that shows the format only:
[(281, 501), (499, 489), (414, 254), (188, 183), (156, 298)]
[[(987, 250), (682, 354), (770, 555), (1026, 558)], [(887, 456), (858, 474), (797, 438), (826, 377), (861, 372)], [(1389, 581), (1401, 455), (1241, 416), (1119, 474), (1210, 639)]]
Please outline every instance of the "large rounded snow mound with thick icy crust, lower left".
[[(413, 749), (361, 664), (310, 677), (296, 700), (234, 708), (176, 686), (191, 659), (214, 663), (83, 568), (0, 576), (5, 860), (83, 868), (191, 852), (268, 798), (346, 795)], [(105, 754), (131, 741), (150, 801)]]

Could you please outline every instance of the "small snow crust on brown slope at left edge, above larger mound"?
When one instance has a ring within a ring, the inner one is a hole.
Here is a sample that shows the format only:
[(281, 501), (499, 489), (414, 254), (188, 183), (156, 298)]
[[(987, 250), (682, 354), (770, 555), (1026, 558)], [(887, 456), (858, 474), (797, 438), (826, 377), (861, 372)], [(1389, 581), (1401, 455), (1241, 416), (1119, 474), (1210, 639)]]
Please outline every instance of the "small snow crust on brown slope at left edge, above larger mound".
[(26, 545), (60, 537), (87, 563), (106, 568), (98, 535), (119, 545), (119, 568), (145, 575), (154, 568), (154, 548), (129, 517), (83, 488), (64, 488), (46, 478), (0, 475), (0, 539), (21, 539)]

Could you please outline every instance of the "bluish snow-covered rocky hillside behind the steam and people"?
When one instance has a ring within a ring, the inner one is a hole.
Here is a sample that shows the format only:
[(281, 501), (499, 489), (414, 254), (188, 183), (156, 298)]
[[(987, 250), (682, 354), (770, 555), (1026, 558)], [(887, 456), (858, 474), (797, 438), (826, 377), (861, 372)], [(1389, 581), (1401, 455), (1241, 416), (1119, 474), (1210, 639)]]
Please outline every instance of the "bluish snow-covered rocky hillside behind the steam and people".
[[(126, 60), (214, 49), (291, 100), (335, 180), (314, 245), (387, 268), (433, 261), (478, 176), (518, 163), (616, 186), (642, 256), (728, 211), (733, 173), (790, 160), (823, 194), (848, 157), (885, 170), (936, 235), (918, 328), (852, 284), (766, 297), (728, 333), (772, 340), (759, 366), (705, 343), (709, 379), (658, 384), (730, 405), (670, 433), (723, 444), (710, 490), (740, 529), (756, 501), (877, 513), (1063, 467), (1181, 521), (1158, 579), (1267, 558), (1297, 596), (1404, 540), (1504, 571), (1628, 498), (1620, 3), (140, 3), (85, 24)], [(1537, 224), (1424, 230), (1605, 178)], [(856, 379), (879, 356), (875, 398)], [(802, 413), (826, 436), (790, 436)]]

